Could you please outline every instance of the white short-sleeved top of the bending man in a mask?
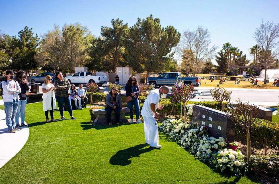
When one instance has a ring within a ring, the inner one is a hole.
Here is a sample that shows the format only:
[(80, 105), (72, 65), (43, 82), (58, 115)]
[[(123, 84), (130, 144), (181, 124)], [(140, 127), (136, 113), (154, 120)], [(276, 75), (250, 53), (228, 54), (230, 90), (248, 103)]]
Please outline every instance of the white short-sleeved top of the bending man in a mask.
[(146, 99), (145, 102), (143, 103), (142, 109), (141, 109), (141, 115), (142, 116), (146, 116), (146, 117), (154, 117), (155, 114), (153, 113), (153, 111), (151, 110), (150, 104), (155, 104), (155, 109), (157, 109), (158, 105), (159, 105), (159, 100), (160, 100), (160, 93), (159, 93), (159, 89), (155, 89), (153, 91), (151, 91)]

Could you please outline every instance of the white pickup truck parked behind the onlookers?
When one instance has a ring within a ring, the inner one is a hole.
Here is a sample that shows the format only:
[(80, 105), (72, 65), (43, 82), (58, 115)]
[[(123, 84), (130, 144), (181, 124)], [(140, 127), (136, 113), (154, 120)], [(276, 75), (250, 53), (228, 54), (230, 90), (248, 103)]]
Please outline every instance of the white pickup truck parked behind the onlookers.
[(107, 82), (106, 76), (94, 76), (92, 72), (77, 72), (66, 78), (71, 84), (96, 83), (98, 86), (102, 86)]

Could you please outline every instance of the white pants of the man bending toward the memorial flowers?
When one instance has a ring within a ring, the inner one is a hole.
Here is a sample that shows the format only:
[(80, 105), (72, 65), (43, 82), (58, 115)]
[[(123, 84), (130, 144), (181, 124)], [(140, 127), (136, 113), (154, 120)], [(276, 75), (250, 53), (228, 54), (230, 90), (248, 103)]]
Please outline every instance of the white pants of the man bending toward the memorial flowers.
[(159, 131), (157, 121), (154, 117), (142, 117), (145, 142), (150, 146), (157, 146), (159, 144)]

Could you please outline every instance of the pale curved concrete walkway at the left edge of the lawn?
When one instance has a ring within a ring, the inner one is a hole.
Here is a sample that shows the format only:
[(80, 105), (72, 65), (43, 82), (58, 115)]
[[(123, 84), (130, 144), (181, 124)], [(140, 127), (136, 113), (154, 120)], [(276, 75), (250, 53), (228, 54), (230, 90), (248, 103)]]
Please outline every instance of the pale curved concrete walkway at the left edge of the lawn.
[(29, 127), (9, 133), (5, 117), (5, 112), (0, 110), (0, 168), (21, 150), (29, 136)]

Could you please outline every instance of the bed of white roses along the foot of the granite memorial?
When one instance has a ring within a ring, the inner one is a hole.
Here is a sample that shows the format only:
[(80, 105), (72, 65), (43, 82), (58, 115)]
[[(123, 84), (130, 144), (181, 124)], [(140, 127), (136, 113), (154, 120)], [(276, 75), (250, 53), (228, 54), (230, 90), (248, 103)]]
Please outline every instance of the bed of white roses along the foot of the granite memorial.
[(197, 159), (210, 163), (216, 170), (229, 171), (238, 177), (247, 171), (245, 156), (241, 151), (227, 149), (225, 139), (210, 137), (205, 126), (195, 127), (180, 120), (167, 119), (159, 126), (159, 131), (176, 140)]

